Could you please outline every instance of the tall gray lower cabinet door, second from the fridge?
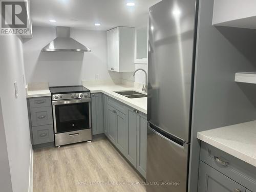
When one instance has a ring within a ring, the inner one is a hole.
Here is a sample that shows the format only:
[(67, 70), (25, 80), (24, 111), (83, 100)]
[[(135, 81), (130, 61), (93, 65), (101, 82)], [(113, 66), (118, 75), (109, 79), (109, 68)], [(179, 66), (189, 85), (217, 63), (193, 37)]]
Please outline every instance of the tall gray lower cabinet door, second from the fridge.
[(127, 108), (127, 154), (126, 158), (136, 167), (137, 156), (137, 113)]

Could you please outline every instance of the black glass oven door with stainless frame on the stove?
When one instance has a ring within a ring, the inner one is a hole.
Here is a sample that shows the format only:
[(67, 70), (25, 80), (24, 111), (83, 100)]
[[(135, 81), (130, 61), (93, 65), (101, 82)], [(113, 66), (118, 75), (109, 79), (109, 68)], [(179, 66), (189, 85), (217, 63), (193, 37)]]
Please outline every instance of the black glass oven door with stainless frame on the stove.
[(91, 128), (91, 98), (52, 101), (54, 132)]

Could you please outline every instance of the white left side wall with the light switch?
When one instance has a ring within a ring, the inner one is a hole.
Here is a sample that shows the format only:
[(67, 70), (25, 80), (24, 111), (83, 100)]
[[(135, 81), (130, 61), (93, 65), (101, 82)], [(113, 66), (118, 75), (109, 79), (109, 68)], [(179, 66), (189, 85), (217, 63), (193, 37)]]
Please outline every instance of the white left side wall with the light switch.
[[(12, 190), (28, 191), (30, 133), (25, 84), (22, 40), (17, 36), (0, 36), (0, 98), (10, 165)], [(15, 99), (14, 81), (18, 83)], [(1, 173), (0, 173), (1, 174)], [(0, 177), (2, 178), (2, 177)], [(0, 189), (2, 191), (2, 188)]]

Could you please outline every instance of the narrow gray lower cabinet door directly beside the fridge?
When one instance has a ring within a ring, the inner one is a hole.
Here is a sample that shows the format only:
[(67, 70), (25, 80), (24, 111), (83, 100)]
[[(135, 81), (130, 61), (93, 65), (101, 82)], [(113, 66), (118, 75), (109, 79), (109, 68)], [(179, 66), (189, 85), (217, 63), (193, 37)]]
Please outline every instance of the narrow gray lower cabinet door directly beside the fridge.
[(147, 119), (146, 115), (137, 115), (137, 165), (136, 168), (141, 175), (146, 178), (146, 134)]

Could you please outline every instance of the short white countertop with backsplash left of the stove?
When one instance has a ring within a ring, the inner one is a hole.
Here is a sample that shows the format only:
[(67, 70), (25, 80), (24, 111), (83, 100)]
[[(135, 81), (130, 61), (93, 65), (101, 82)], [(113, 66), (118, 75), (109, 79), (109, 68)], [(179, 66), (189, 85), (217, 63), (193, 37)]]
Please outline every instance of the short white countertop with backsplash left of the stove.
[(29, 83), (26, 86), (26, 95), (27, 98), (51, 96), (48, 82)]

